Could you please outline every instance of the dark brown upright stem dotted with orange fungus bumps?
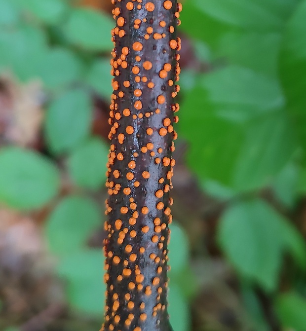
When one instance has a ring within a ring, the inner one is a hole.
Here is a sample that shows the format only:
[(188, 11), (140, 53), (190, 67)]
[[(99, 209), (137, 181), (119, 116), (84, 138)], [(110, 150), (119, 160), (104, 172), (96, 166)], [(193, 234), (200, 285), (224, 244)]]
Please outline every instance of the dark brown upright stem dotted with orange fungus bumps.
[(106, 331), (171, 331), (167, 244), (179, 110), (177, 0), (114, 0)]

